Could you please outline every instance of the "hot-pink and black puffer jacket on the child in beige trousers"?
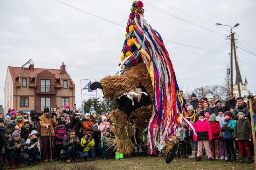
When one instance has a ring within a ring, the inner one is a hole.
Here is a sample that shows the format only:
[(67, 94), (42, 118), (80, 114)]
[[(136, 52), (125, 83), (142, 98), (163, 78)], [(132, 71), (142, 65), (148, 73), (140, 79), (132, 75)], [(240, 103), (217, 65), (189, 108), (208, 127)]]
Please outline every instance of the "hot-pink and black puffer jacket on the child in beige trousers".
[(207, 120), (201, 121), (200, 119), (197, 120), (195, 123), (195, 133), (197, 136), (194, 135), (194, 140), (212, 140), (212, 128)]

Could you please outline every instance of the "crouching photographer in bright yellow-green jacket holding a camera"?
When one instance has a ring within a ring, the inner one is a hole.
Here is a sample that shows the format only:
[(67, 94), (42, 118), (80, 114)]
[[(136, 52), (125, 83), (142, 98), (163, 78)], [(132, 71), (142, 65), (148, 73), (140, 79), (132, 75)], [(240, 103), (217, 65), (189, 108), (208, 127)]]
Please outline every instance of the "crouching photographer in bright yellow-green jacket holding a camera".
[(83, 148), (84, 158), (88, 158), (90, 153), (93, 157), (93, 161), (96, 161), (94, 144), (95, 143), (93, 138), (93, 132), (87, 131), (84, 137), (81, 139), (81, 146)]

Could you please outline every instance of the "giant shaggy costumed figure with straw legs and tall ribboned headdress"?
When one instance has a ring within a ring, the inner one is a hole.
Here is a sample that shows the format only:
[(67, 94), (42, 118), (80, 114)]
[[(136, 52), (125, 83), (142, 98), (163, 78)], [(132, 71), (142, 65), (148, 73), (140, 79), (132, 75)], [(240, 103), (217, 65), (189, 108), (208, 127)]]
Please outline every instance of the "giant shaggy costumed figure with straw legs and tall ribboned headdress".
[(135, 142), (147, 144), (150, 154), (157, 148), (170, 163), (179, 138), (185, 135), (183, 126), (194, 127), (185, 119), (187, 113), (163, 40), (143, 13), (143, 3), (133, 2), (118, 72), (94, 82), (90, 88), (101, 88), (105, 98), (116, 100), (118, 109), (110, 117), (117, 152), (133, 152), (130, 119), (135, 119)]

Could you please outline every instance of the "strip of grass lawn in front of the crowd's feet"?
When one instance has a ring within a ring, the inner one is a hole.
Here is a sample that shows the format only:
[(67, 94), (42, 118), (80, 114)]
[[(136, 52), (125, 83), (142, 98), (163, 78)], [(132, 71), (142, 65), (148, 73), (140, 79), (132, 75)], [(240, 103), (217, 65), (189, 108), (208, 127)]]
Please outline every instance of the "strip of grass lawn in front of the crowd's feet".
[[(73, 167), (74, 164), (83, 164), (85, 162), (77, 162), (77, 163), (71, 163), (67, 164), (66, 162), (49, 162), (44, 163), (40, 162), (40, 164), (36, 166), (23, 166), (22, 170), (41, 170), (45, 167), (51, 165), (51, 169), (55, 169), (54, 165), (58, 165), (61, 167)], [(253, 163), (247, 164), (247, 163), (240, 163), (239, 161), (235, 163), (227, 163), (223, 160), (217, 160), (209, 162), (208, 160), (202, 160), (200, 162), (196, 162), (195, 160), (191, 160), (190, 158), (175, 158), (171, 163), (167, 164), (165, 163), (165, 157), (141, 157), (141, 158), (135, 158), (135, 157), (128, 157), (124, 160), (101, 160), (97, 159), (95, 162), (88, 161), (86, 163), (94, 164), (99, 169), (130, 169), (130, 170), (136, 170), (136, 169), (159, 169), (159, 170), (202, 170), (202, 169), (212, 169), (212, 170), (250, 170), (254, 169)], [(62, 168), (58, 167), (58, 170), (61, 170)], [(9, 168), (9, 167), (8, 167)], [(7, 166), (4, 168), (7, 169)], [(74, 169), (74, 168), (73, 168)], [(47, 168), (47, 170), (50, 170)], [(86, 170), (86, 168), (85, 168)]]

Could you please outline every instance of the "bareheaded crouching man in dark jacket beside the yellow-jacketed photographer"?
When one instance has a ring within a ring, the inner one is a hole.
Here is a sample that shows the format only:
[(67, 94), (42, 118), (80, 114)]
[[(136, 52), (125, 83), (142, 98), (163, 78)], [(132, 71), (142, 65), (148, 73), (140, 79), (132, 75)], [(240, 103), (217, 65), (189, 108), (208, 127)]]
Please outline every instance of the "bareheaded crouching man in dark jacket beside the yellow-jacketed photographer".
[(78, 157), (79, 159), (83, 159), (84, 157), (84, 154), (80, 152), (81, 145), (79, 138), (76, 137), (75, 130), (69, 130), (69, 135), (63, 140), (63, 148), (66, 152), (67, 163), (71, 163), (74, 157)]

